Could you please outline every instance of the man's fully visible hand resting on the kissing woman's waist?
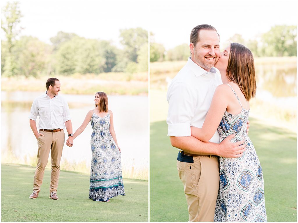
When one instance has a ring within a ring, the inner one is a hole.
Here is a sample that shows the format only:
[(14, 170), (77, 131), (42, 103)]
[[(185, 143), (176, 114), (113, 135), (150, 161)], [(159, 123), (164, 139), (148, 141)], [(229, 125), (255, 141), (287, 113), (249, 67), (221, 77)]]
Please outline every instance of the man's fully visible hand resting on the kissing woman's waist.
[(246, 144), (241, 145), (244, 141), (239, 141), (236, 143), (231, 143), (230, 140), (235, 137), (235, 134), (229, 135), (219, 144), (219, 156), (225, 158), (238, 158), (243, 155), (246, 150)]

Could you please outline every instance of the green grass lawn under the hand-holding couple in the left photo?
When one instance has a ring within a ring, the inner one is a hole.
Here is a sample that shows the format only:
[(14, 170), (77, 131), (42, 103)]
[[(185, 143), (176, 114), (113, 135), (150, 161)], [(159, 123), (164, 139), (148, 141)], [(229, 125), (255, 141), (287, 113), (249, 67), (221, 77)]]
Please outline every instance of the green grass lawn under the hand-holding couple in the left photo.
[(148, 181), (123, 179), (126, 196), (96, 202), (89, 198), (89, 175), (60, 172), (58, 197), (49, 198), (50, 170), (46, 169), (37, 199), (32, 193), (35, 168), (1, 165), (2, 222), (147, 222)]

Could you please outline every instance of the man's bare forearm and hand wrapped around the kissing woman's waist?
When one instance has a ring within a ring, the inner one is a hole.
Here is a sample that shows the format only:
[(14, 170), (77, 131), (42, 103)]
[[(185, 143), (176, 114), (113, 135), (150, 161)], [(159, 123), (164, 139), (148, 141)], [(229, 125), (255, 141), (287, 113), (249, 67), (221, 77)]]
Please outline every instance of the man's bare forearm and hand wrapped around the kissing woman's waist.
[(172, 146), (190, 154), (216, 155), (226, 158), (241, 157), (246, 150), (246, 144), (241, 145), (244, 141), (231, 143), (230, 140), (233, 137), (235, 137), (235, 134), (229, 135), (220, 144), (210, 142), (205, 143), (193, 136), (170, 136), (170, 141)]

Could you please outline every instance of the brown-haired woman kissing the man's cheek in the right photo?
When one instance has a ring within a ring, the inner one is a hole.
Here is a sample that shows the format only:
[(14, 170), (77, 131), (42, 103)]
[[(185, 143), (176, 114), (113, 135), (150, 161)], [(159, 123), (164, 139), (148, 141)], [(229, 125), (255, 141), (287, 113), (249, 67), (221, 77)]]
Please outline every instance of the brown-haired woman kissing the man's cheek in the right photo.
[(191, 127), (191, 135), (208, 142), (216, 130), (220, 141), (236, 134), (231, 141), (245, 140), (247, 148), (239, 158), (220, 157), (214, 221), (267, 221), (263, 172), (246, 133), (249, 100), (256, 92), (253, 55), (243, 45), (232, 43), (221, 52), (215, 67), (224, 84), (216, 88), (202, 128)]

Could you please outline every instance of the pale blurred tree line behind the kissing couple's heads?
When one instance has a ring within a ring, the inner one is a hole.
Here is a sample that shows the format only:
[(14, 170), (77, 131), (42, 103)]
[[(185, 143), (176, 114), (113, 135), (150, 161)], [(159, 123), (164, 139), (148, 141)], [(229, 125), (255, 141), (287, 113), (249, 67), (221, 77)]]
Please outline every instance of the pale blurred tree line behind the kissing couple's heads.
[[(153, 34), (150, 33), (150, 39)], [(244, 40), (240, 34), (233, 35), (230, 42), (236, 42), (248, 47), (254, 57), (283, 57), (297, 56), (297, 27), (276, 25), (268, 32), (258, 35), (254, 39)], [(224, 45), (228, 45), (225, 43)], [(150, 42), (150, 62), (180, 61), (190, 56), (188, 44), (181, 44), (166, 51), (162, 44)]]

